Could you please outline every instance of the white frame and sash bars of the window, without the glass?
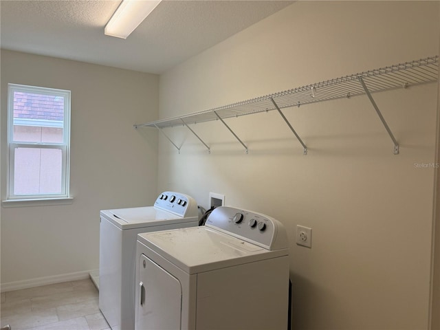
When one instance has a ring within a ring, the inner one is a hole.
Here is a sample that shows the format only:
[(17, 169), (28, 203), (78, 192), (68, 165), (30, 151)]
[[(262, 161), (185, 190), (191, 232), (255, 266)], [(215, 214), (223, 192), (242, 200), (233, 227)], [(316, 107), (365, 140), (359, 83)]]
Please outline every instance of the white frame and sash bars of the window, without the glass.
[[(14, 120), (14, 92), (62, 96), (64, 98), (63, 142), (19, 142), (14, 141), (14, 123), (24, 126), (61, 127), (52, 120)], [(50, 199), (71, 199), (70, 197), (70, 91), (26, 85), (8, 84), (8, 201), (32, 201)], [(33, 125), (38, 123), (38, 125)], [(61, 192), (59, 194), (15, 195), (14, 194), (14, 154), (16, 148), (56, 148), (62, 152)]]

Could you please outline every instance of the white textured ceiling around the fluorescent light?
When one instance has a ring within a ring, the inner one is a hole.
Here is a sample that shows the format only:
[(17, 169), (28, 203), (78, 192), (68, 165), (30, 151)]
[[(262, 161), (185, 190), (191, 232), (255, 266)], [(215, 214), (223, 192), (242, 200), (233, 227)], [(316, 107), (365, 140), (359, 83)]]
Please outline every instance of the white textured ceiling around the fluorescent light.
[(104, 35), (120, 1), (0, 1), (6, 50), (160, 74), (293, 1), (164, 0), (127, 38)]

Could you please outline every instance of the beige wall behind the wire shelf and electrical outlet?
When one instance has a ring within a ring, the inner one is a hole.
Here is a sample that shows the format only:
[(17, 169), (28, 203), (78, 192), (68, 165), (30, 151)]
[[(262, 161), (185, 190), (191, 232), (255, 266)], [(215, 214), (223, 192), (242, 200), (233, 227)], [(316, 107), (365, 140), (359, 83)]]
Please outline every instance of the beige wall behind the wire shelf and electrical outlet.
[[(160, 76), (160, 118), (329, 78), (434, 56), (436, 1), (299, 1)], [(285, 110), (303, 150), (275, 112), (167, 129), (159, 190), (207, 206), (276, 217), (289, 234), (294, 329), (427, 329), (430, 300), (437, 84), (375, 94), (400, 144), (366, 96)], [(294, 243), (313, 228), (312, 248)], [(256, 274), (258, 276), (258, 274)]]

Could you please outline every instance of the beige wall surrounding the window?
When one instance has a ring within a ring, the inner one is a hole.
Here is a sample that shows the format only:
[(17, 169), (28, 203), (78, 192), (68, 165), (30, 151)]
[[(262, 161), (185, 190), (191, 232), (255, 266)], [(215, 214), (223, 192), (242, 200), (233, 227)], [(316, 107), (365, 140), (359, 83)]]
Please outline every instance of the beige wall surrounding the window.
[(8, 83), (72, 91), (71, 192), (64, 206), (1, 208), (1, 284), (98, 269), (99, 210), (153, 203), (159, 77), (1, 51), (1, 198), (5, 199)]

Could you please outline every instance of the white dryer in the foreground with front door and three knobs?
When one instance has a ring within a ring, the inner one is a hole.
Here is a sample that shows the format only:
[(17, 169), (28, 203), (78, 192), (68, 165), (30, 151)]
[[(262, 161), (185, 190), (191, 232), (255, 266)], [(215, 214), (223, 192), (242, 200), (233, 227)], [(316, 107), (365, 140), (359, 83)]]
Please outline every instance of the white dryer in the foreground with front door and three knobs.
[(221, 206), (197, 228), (137, 235), (136, 330), (286, 330), (283, 225)]

